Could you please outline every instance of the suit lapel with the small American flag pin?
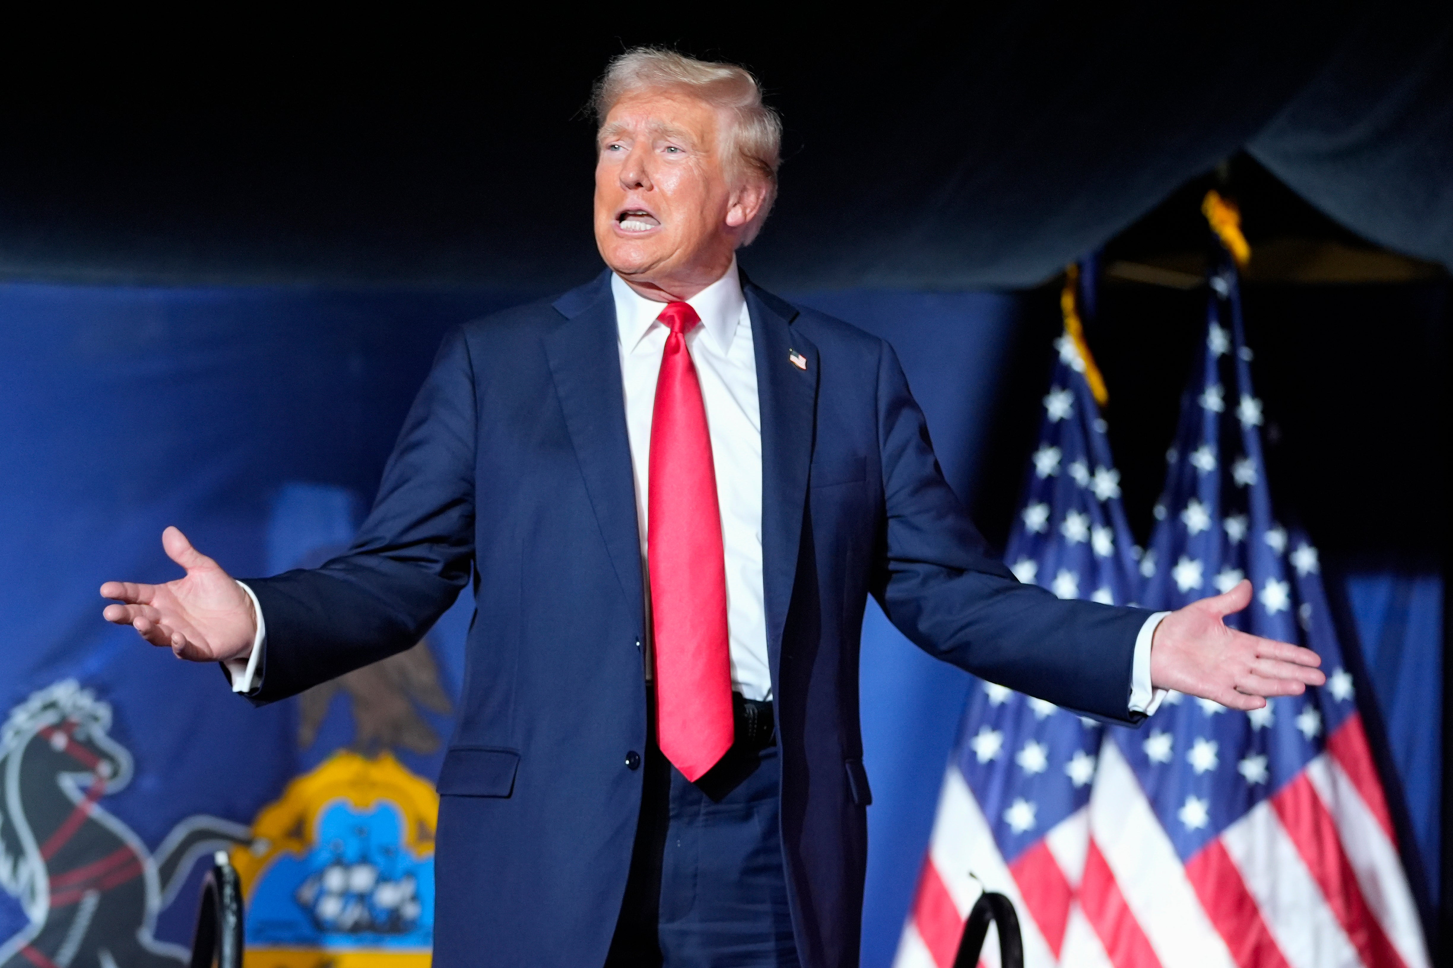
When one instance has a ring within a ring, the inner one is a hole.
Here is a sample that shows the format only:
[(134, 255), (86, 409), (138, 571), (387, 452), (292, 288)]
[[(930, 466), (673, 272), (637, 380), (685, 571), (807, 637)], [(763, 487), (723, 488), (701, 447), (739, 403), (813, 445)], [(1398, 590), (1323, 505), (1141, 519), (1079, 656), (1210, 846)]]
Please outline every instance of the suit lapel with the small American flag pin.
[[(761, 592), (773, 695), (780, 695), (782, 629), (802, 546), (808, 468), (817, 429), (818, 352), (792, 328), (798, 311), (744, 281), (761, 408)], [(796, 355), (806, 363), (792, 362)]]

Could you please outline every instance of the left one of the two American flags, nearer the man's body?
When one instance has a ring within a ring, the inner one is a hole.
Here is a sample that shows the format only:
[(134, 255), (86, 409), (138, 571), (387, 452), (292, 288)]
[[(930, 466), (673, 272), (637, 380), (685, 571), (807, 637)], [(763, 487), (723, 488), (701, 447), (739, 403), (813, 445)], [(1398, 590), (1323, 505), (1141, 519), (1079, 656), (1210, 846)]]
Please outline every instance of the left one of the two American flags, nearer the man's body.
[[(1020, 581), (1062, 599), (1126, 605), (1139, 586), (1135, 549), (1072, 286), (1005, 561)], [(1101, 733), (1097, 722), (1049, 702), (975, 682), (895, 965), (952, 965), (963, 919), (985, 888), (1019, 908), (1026, 964), (1080, 964), (1077, 952), (1098, 945), (1075, 892)], [(985, 961), (994, 964), (997, 955), (991, 940)]]

